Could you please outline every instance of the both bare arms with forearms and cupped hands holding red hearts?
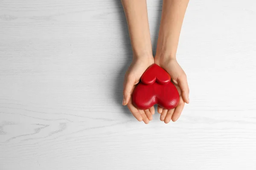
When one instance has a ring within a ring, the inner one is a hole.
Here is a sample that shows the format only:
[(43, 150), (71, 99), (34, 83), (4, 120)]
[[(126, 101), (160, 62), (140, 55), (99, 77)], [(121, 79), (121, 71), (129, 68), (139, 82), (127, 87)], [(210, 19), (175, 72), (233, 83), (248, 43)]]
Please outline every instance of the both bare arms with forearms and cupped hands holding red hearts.
[(171, 76), (180, 94), (179, 105), (171, 110), (158, 106), (160, 120), (165, 123), (177, 121), (185, 103), (189, 103), (189, 86), (186, 74), (176, 60), (180, 30), (189, 0), (163, 0), (162, 18), (155, 57), (152, 54), (146, 0), (122, 0), (128, 23), (133, 61), (125, 74), (123, 105), (127, 105), (138, 121), (148, 124), (154, 107), (140, 110), (134, 107), (131, 94), (144, 71), (153, 63), (160, 65)]

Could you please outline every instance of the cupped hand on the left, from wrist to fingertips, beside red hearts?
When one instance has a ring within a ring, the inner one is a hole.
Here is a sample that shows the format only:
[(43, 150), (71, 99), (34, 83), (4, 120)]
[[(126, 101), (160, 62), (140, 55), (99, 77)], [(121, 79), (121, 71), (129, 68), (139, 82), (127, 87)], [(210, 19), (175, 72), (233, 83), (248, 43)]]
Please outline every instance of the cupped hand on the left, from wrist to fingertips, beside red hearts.
[(154, 106), (147, 110), (135, 108), (131, 101), (131, 94), (134, 91), (135, 85), (140, 82), (140, 77), (144, 71), (152, 64), (154, 64), (153, 56), (144, 58), (134, 57), (130, 67), (125, 73), (124, 81), (124, 97), (122, 104), (127, 105), (133, 116), (140, 122), (143, 120), (145, 124), (148, 124), (149, 121), (153, 119)]

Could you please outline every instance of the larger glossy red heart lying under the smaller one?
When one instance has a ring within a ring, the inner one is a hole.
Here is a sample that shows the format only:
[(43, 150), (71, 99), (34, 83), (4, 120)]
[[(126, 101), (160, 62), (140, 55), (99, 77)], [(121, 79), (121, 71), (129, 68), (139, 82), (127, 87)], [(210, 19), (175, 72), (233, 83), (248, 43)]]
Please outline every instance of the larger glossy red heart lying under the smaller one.
[(138, 109), (146, 110), (160, 105), (165, 109), (176, 108), (180, 102), (179, 93), (172, 82), (166, 85), (160, 85), (155, 82), (152, 85), (139, 83), (132, 94), (132, 102)]

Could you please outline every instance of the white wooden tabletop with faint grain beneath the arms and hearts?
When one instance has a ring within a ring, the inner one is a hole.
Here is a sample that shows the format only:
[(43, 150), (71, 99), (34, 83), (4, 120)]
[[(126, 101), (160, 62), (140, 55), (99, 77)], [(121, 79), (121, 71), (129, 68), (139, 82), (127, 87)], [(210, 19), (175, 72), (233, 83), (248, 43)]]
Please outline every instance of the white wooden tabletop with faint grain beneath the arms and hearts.
[[(154, 49), (160, 14), (148, 0)], [(191, 103), (145, 125), (121, 105), (119, 0), (0, 0), (0, 170), (255, 170), (255, 30), (254, 0), (191, 0), (177, 52)]]

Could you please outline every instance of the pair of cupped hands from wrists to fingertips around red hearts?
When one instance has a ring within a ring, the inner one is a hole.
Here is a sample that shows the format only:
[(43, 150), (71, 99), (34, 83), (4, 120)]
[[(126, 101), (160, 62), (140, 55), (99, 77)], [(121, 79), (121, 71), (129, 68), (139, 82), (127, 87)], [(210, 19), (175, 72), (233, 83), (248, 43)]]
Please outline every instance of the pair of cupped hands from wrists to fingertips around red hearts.
[(154, 58), (153, 56), (134, 56), (130, 67), (125, 73), (122, 104), (127, 105), (133, 116), (140, 122), (143, 121), (145, 122), (145, 124), (148, 124), (149, 121), (153, 119), (152, 115), (155, 113), (154, 106), (147, 110), (137, 109), (131, 101), (131, 95), (134, 91), (135, 86), (140, 82), (140, 77), (142, 76), (142, 74), (150, 65), (154, 63), (165, 69), (170, 74), (172, 82), (174, 83), (180, 94), (180, 102), (176, 108), (167, 110), (161, 108), (160, 106), (157, 107), (157, 112), (161, 114), (161, 121), (169, 123), (172, 120), (173, 122), (175, 122), (177, 121), (177, 119), (179, 119), (185, 103), (189, 103), (189, 86), (186, 74), (178, 64), (176, 57)]

